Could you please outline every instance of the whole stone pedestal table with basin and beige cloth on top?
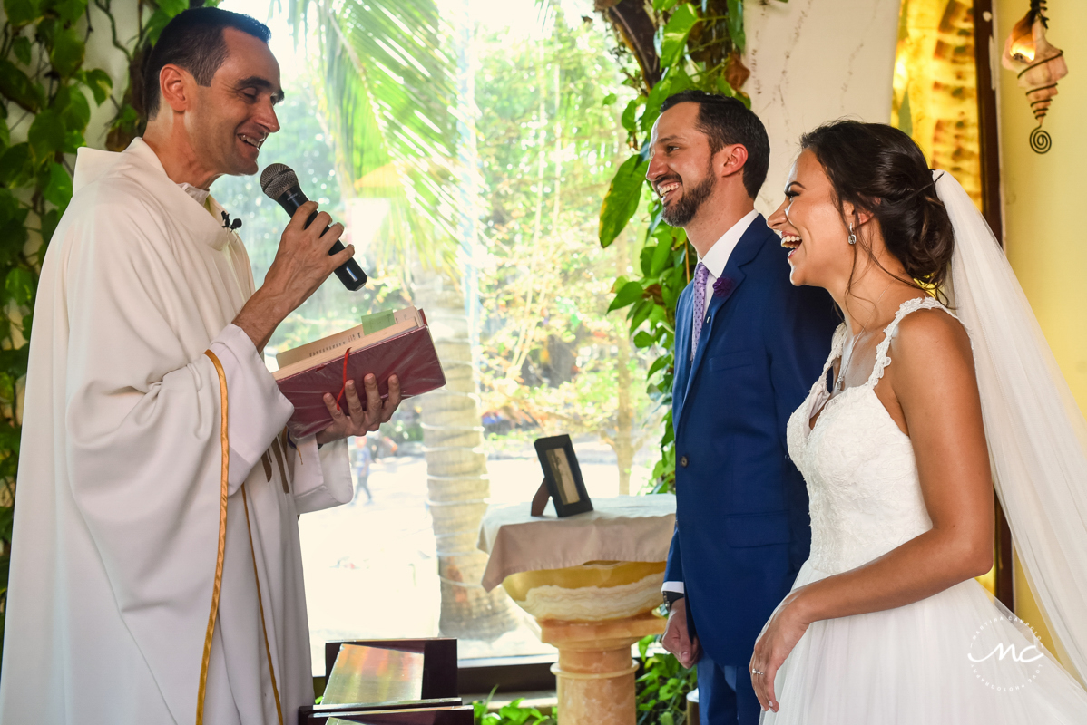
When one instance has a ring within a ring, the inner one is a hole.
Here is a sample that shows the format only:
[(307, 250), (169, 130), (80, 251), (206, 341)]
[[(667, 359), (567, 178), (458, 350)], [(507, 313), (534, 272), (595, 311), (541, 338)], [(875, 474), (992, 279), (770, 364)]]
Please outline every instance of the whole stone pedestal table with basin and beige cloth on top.
[[(663, 634), (664, 560), (675, 497), (619, 496), (558, 519), (524, 504), (491, 505), (479, 531), (490, 555), (483, 585), (501, 584), (559, 650), (551, 669), (560, 725), (635, 725), (630, 646)], [(571, 562), (580, 562), (571, 565)]]

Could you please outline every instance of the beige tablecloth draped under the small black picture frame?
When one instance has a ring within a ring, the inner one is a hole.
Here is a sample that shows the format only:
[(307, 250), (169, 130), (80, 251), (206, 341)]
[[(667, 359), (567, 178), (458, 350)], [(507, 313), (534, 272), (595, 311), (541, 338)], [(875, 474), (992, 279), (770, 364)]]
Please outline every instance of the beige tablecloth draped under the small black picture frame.
[(483, 586), (510, 574), (577, 567), (586, 561), (664, 561), (676, 520), (672, 494), (594, 498), (592, 511), (559, 519), (529, 504), (492, 504), (479, 526), (479, 549), (490, 555)]

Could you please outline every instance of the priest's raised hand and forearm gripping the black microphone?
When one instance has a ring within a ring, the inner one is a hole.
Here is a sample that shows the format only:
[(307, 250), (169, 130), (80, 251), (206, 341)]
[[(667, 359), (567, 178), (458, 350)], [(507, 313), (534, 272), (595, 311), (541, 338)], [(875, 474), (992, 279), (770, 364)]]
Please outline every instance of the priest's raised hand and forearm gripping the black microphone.
[[(258, 351), (264, 349), (287, 315), (309, 300), (337, 267), (354, 256), (351, 244), (342, 252), (328, 254), (343, 233), (343, 225), (332, 224), (332, 217), (325, 212), (317, 214), (313, 224), (305, 227), (305, 220), (316, 211), (316, 202), (305, 202), (298, 207), (279, 239), (279, 249), (264, 276), (264, 283), (234, 319)], [(328, 231), (324, 231), (326, 226)]]

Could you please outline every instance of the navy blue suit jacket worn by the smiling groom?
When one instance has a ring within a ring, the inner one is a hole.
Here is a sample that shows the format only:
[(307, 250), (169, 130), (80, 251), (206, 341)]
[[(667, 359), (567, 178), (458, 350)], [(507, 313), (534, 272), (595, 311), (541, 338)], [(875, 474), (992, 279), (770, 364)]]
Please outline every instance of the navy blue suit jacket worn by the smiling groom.
[(762, 216), (722, 280), (694, 361), (692, 284), (676, 306), (676, 530), (665, 581), (684, 583), (703, 651), (747, 666), (811, 547), (808, 493), (785, 428), (839, 319), (824, 290), (789, 282), (786, 251)]

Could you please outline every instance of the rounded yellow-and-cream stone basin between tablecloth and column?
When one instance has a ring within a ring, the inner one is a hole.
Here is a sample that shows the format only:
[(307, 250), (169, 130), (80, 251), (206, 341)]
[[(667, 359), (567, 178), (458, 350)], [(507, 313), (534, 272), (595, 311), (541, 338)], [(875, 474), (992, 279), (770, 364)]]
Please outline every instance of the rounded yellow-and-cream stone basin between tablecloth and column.
[(511, 574), (502, 586), (539, 622), (607, 622), (660, 606), (664, 565), (663, 561), (587, 561)]

